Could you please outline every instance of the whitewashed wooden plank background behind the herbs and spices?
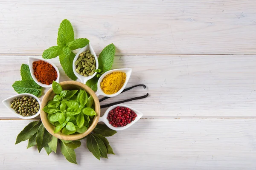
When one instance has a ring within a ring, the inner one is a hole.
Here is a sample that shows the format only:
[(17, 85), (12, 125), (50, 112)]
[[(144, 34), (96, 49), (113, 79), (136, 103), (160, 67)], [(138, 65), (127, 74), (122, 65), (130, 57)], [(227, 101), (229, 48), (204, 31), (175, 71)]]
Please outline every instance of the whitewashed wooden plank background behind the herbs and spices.
[(116, 45), (113, 68), (133, 69), (128, 86), (147, 85), (102, 104), (150, 94), (126, 103), (144, 116), (108, 137), (116, 155), (98, 161), (83, 143), (79, 165), (15, 145), (31, 120), (0, 103), (0, 169), (256, 170), (255, 9), (254, 0), (0, 0), (0, 100), (16, 94), (28, 56), (56, 45), (65, 18), (96, 54)]

